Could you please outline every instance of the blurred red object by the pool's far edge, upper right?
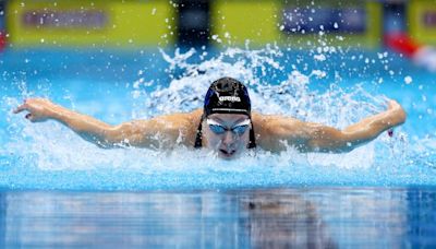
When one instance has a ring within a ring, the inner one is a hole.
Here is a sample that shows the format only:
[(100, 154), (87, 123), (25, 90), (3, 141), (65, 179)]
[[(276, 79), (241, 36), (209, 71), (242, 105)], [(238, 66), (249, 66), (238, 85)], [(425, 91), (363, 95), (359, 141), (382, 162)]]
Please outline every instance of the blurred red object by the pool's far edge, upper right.
[(421, 48), (421, 45), (415, 43), (405, 33), (393, 33), (385, 35), (385, 44), (397, 52), (403, 54), (407, 57), (413, 55)]

